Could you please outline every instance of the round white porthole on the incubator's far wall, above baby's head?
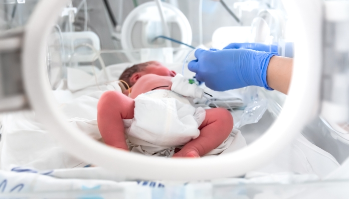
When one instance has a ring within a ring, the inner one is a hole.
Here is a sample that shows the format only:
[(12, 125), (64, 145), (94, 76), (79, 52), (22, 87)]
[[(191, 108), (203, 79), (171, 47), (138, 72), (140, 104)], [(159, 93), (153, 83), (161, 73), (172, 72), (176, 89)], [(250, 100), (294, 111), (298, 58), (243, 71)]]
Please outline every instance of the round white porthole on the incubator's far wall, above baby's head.
[[(122, 26), (120, 39), (124, 50), (141, 49), (138, 56), (134, 53), (126, 54), (132, 62), (181, 61), (183, 53), (186, 52), (174, 52), (172, 47), (180, 47), (180, 44), (172, 44), (170, 40), (162, 39), (159, 37), (162, 34), (166, 38), (191, 44), (191, 28), (184, 14), (174, 5), (156, 0), (143, 3), (130, 12)], [(162, 48), (155, 49), (154, 46)]]

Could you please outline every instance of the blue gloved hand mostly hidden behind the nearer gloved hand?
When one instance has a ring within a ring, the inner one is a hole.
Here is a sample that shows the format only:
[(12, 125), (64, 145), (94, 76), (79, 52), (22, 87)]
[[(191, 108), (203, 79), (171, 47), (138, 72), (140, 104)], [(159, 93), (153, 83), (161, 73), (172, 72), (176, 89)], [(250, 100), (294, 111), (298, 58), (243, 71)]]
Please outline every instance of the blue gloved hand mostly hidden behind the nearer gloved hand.
[(225, 46), (223, 49), (251, 49), (263, 52), (278, 52), (277, 45), (265, 45), (261, 43), (231, 43)]

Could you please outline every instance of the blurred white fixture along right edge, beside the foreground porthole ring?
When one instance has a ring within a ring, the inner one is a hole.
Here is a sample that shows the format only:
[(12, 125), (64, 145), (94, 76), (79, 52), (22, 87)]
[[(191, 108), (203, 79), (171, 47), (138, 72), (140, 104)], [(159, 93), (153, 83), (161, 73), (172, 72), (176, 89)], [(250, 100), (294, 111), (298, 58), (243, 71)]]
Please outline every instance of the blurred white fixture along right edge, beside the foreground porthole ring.
[[(349, 14), (348, 1), (326, 1), (324, 69), (321, 116), (337, 132), (339, 140), (349, 133)], [(348, 142), (348, 141), (346, 141)]]

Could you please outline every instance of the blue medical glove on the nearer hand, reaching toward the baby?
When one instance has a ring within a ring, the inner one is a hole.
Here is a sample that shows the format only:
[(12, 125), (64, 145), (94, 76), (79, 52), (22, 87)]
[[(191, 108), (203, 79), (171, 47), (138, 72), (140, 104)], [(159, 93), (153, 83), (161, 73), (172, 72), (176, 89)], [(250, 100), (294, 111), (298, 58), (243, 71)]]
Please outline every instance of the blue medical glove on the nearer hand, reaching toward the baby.
[(197, 60), (189, 62), (188, 69), (196, 73), (198, 81), (215, 91), (247, 86), (273, 90), (267, 84), (267, 68), (274, 55), (278, 54), (249, 49), (197, 49)]

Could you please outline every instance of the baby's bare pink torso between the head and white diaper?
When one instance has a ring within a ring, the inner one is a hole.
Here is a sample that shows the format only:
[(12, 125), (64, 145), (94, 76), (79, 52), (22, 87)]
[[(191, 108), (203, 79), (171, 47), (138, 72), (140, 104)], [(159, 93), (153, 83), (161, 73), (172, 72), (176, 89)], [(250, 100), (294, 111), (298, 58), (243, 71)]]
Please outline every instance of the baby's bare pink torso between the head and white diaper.
[[(152, 90), (166, 89), (171, 90), (172, 77), (160, 76), (155, 74), (147, 74), (142, 76), (132, 87), (130, 97), (135, 99), (137, 96)], [(157, 88), (161, 87), (161, 88)]]

